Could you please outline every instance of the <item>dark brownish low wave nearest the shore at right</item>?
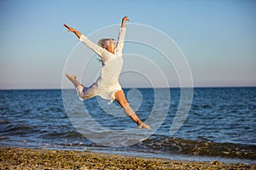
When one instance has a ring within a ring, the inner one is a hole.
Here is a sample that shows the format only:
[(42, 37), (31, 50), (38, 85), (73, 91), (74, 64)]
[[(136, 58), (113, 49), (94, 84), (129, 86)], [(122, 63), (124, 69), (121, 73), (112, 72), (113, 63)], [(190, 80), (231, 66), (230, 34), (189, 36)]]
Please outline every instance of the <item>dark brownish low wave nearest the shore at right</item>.
[(147, 150), (160, 150), (168, 153), (193, 156), (256, 159), (256, 146), (247, 144), (214, 143), (206, 140), (195, 141), (154, 136), (153, 138), (142, 140), (137, 146)]

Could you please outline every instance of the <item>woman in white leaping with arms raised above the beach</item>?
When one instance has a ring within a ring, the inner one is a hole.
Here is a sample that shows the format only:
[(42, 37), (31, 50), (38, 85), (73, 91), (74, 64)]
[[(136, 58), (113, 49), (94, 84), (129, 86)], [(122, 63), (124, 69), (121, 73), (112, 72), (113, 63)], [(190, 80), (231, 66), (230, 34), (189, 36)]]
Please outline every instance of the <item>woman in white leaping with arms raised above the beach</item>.
[(73, 32), (79, 38), (79, 41), (84, 42), (88, 48), (96, 52), (96, 54), (101, 57), (102, 61), (101, 75), (89, 88), (84, 87), (83, 84), (77, 81), (75, 76), (69, 74), (66, 76), (71, 82), (73, 82), (73, 85), (79, 95), (79, 99), (90, 99), (99, 95), (103, 99), (108, 99), (108, 104), (111, 104), (113, 100), (116, 100), (124, 109), (125, 114), (130, 116), (131, 119), (137, 123), (138, 128), (145, 127), (150, 129), (150, 127), (146, 123), (142, 122), (138, 118), (137, 114), (132, 110), (131, 106), (125, 99), (125, 94), (119, 84), (119, 74), (123, 66), (122, 50), (125, 41), (125, 21), (129, 21), (127, 16), (122, 20), (116, 45), (113, 42), (113, 39), (101, 39), (98, 42), (98, 45), (96, 45), (96, 43), (91, 42), (79, 31), (65, 24), (64, 26), (67, 27), (68, 31)]

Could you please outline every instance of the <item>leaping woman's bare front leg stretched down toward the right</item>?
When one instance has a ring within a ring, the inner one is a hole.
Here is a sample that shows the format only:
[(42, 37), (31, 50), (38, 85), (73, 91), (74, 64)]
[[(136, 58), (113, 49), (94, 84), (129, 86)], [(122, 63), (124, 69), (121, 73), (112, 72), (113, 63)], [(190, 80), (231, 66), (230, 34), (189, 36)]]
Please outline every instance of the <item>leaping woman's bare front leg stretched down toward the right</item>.
[(131, 106), (129, 105), (129, 103), (127, 102), (127, 100), (125, 99), (125, 94), (123, 92), (123, 90), (119, 90), (117, 91), (115, 94), (114, 94), (114, 97), (115, 97), (115, 100), (119, 103), (119, 105), (121, 105), (121, 107), (124, 109), (125, 111), (125, 114), (127, 116), (130, 116), (131, 119), (137, 123), (138, 125), (138, 128), (147, 128), (147, 129), (150, 129), (150, 127), (142, 122), (137, 114), (132, 110)]

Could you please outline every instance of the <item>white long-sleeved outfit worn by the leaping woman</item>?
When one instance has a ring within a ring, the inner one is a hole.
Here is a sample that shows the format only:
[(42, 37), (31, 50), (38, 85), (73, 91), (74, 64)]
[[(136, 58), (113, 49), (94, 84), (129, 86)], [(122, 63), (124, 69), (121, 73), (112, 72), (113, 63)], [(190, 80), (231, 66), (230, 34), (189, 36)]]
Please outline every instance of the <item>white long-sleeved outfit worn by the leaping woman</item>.
[(79, 41), (92, 49), (102, 59), (101, 74), (89, 88), (78, 87), (77, 92), (79, 99), (90, 99), (96, 95), (101, 96), (103, 99), (108, 99), (108, 104), (113, 102), (114, 93), (122, 90), (119, 84), (119, 75), (123, 67), (122, 50), (125, 41), (126, 28), (119, 29), (119, 37), (114, 54), (108, 52), (107, 49), (99, 47), (96, 43), (91, 42), (90, 39), (82, 35)]

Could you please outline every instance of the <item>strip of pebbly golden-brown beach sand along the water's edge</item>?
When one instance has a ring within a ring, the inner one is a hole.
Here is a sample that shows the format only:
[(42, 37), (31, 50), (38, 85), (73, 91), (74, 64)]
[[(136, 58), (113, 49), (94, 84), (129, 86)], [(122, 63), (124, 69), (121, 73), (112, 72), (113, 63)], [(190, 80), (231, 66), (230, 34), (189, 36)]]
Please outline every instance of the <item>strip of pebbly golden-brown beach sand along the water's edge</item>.
[(0, 169), (256, 169), (256, 165), (0, 147)]

